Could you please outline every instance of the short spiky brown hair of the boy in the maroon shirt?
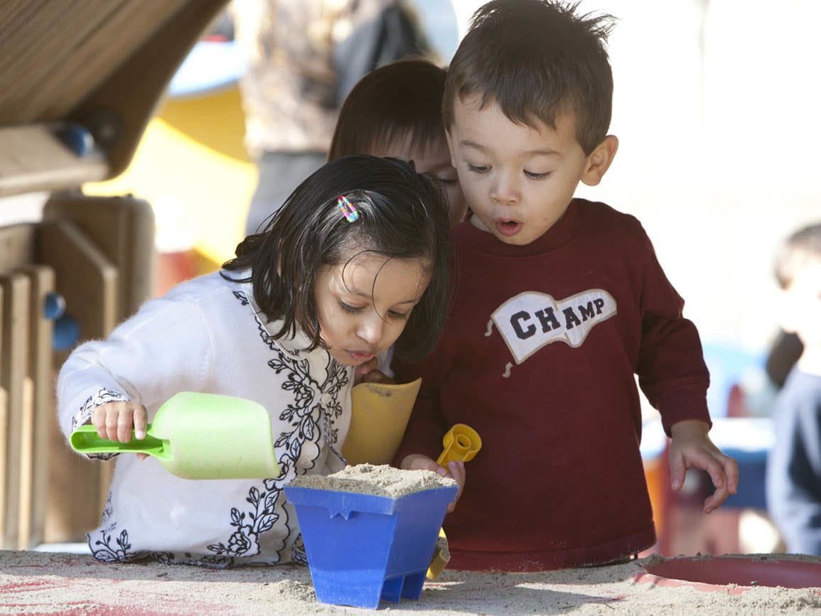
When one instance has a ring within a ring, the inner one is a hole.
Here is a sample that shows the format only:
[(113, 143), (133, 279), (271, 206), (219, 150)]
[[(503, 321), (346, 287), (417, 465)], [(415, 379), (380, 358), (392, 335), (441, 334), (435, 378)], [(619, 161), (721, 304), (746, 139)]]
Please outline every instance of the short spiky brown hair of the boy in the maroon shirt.
[(493, 0), (474, 13), (447, 69), (443, 119), (450, 128), (456, 97), (479, 94), (511, 121), (556, 128), (571, 112), (585, 154), (607, 136), (612, 71), (605, 49), (612, 16), (577, 15), (578, 2)]

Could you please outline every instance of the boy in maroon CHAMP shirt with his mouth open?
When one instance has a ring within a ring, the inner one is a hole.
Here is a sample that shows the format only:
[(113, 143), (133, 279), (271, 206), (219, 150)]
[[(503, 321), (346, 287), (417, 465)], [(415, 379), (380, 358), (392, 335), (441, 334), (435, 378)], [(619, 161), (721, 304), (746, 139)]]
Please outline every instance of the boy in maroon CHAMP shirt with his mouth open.
[(709, 375), (695, 326), (644, 229), (573, 198), (616, 154), (606, 16), (548, 0), (476, 11), (447, 73), (443, 116), (472, 217), (459, 278), (397, 460), (434, 461), (455, 423), (479, 432), (446, 518), (453, 568), (532, 571), (623, 559), (654, 544), (635, 374), (672, 437), (672, 488), (709, 472), (709, 513), (736, 462), (709, 440)]

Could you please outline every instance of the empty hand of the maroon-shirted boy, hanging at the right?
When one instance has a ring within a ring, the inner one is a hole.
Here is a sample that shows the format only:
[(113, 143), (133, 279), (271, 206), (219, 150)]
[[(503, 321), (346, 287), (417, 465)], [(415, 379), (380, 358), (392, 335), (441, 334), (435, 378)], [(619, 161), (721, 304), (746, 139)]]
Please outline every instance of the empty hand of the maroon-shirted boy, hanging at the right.
[(738, 490), (738, 463), (713, 445), (709, 425), (698, 420), (673, 424), (670, 428), (670, 480), (673, 491), (681, 490), (689, 468), (709, 473), (716, 490), (704, 500), (704, 513), (718, 509), (727, 496)]

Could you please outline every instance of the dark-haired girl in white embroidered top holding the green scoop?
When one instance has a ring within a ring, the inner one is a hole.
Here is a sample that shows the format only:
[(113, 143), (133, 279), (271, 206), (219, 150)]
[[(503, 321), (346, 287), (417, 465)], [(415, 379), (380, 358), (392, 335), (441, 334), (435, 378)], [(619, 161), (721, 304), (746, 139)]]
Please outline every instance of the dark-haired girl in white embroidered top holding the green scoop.
[(305, 562), (282, 487), (342, 468), (356, 366), (392, 345), (409, 358), (432, 348), (447, 308), (448, 232), (433, 181), (397, 159), (343, 157), (305, 180), (222, 271), (76, 349), (57, 382), (66, 436), (90, 422), (102, 438), (131, 440), (134, 427), (140, 439), (180, 391), (239, 396), (268, 409), (282, 470), (192, 481), (121, 455), (88, 535), (94, 558)]

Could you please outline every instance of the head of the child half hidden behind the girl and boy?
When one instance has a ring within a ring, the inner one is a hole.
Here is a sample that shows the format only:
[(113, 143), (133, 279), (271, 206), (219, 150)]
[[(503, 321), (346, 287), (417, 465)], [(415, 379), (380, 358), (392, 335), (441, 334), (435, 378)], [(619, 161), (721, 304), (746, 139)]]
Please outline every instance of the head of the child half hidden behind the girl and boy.
[(436, 176), (447, 190), (452, 225), (467, 203), (451, 164), (442, 121), (445, 70), (428, 60), (401, 60), (369, 72), (345, 99), (328, 160), (349, 154), (395, 156)]

